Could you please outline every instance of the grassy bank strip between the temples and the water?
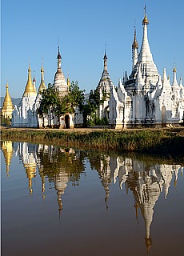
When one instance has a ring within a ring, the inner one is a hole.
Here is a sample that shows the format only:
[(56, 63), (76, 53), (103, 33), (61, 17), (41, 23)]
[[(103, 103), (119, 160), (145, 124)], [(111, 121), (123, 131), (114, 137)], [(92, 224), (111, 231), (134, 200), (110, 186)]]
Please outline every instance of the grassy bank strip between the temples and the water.
[(184, 156), (184, 129), (140, 130), (33, 130), (1, 129), (2, 139), (50, 142), (99, 150), (143, 152)]

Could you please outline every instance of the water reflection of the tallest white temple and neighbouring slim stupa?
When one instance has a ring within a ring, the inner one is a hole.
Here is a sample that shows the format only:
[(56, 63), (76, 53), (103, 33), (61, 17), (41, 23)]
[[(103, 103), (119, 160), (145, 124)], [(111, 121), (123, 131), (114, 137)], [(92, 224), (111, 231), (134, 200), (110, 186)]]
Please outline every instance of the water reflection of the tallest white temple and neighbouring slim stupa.
[(124, 183), (126, 193), (129, 189), (133, 192), (136, 218), (138, 218), (138, 210), (140, 209), (145, 222), (146, 248), (149, 250), (152, 245), (150, 226), (153, 221), (155, 203), (162, 191), (165, 198), (167, 197), (173, 176), (174, 186), (176, 186), (178, 171), (181, 170), (182, 174), (182, 167), (166, 164), (151, 166), (151, 164), (132, 158), (106, 157), (106, 164), (101, 160), (98, 169), (102, 185), (106, 190), (106, 198), (109, 197), (109, 186), (112, 179), (116, 183), (118, 178), (120, 190), (122, 190)]

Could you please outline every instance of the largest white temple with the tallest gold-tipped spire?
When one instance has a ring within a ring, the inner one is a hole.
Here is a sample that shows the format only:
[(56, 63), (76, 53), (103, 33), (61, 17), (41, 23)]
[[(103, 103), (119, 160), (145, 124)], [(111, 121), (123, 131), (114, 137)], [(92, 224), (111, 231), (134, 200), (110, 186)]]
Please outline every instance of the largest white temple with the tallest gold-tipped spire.
[(174, 64), (174, 78), (170, 83), (166, 69), (158, 74), (147, 36), (148, 18), (142, 21), (143, 38), (138, 54), (138, 42), (134, 31), (132, 44), (132, 71), (119, 80), (118, 89), (111, 86), (109, 101), (110, 126), (115, 129), (133, 127), (178, 126), (184, 115), (184, 88), (182, 78), (178, 84)]

